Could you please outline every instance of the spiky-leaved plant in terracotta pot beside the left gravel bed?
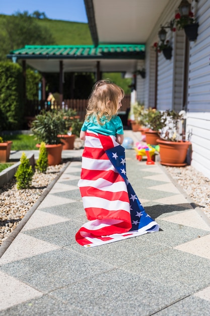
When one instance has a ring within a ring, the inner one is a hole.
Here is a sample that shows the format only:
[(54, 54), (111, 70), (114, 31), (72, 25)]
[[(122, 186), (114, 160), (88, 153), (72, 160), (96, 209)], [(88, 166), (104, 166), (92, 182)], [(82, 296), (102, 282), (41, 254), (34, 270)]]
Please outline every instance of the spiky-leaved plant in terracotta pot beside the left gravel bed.
[(36, 136), (40, 147), (45, 142), (48, 152), (48, 165), (54, 166), (61, 163), (62, 143), (57, 136), (60, 134), (63, 118), (58, 111), (42, 110), (31, 123), (31, 129)]

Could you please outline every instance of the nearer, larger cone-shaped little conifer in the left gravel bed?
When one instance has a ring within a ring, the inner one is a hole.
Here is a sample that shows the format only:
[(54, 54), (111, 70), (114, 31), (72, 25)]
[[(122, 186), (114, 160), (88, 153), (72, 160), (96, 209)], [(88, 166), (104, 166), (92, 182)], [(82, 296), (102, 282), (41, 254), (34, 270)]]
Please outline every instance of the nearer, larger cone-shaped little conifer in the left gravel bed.
[(29, 188), (33, 177), (32, 166), (30, 165), (29, 159), (27, 158), (25, 152), (22, 153), (20, 162), (21, 164), (15, 174), (17, 179), (17, 188), (19, 190)]

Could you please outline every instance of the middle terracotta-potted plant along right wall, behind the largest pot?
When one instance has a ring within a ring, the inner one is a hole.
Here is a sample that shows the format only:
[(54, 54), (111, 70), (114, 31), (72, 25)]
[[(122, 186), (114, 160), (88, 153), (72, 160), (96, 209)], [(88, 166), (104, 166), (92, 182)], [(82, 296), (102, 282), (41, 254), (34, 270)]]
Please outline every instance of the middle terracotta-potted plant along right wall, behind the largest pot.
[(156, 109), (146, 109), (143, 114), (145, 125), (149, 128), (145, 132), (146, 142), (150, 145), (157, 145), (157, 139), (160, 138), (160, 132), (165, 126), (166, 117), (163, 112)]

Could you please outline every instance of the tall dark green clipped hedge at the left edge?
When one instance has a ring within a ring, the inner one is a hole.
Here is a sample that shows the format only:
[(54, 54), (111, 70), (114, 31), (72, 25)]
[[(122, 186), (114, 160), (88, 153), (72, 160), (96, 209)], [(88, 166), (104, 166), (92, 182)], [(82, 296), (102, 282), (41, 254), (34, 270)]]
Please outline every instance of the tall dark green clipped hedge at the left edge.
[(2, 130), (21, 128), (24, 116), (22, 67), (0, 62), (0, 125)]

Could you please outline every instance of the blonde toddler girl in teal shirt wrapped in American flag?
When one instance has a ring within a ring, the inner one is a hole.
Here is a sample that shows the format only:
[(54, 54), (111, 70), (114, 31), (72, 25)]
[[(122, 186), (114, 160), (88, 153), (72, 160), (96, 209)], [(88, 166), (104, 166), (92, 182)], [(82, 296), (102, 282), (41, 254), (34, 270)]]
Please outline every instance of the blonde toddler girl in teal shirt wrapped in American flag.
[(78, 186), (89, 222), (76, 240), (85, 247), (159, 230), (126, 177), (123, 125), (117, 116), (123, 97), (124, 91), (116, 84), (97, 82), (81, 129), (85, 148)]

